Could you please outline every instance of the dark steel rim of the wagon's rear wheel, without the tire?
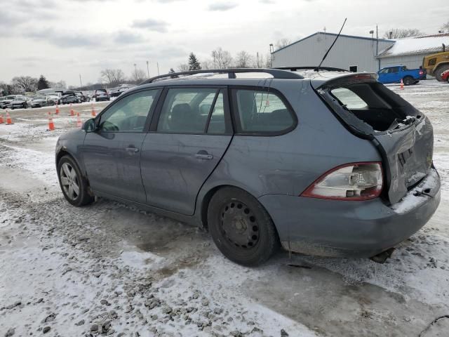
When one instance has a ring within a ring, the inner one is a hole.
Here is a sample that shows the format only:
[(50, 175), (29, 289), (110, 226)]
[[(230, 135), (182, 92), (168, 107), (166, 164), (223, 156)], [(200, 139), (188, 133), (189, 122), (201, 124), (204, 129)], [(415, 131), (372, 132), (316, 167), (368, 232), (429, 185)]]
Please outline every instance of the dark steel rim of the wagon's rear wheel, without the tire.
[(246, 204), (233, 200), (222, 207), (222, 235), (239, 249), (253, 249), (259, 243), (260, 233), (254, 213)]

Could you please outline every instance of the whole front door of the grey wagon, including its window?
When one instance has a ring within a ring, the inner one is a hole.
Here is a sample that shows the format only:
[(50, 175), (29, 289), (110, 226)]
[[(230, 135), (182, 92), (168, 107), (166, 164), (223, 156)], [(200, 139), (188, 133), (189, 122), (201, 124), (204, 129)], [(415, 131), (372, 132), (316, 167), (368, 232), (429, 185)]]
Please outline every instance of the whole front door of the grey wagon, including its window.
[(98, 131), (86, 134), (83, 161), (94, 191), (145, 203), (140, 156), (158, 92), (138, 91), (117, 99), (98, 116)]

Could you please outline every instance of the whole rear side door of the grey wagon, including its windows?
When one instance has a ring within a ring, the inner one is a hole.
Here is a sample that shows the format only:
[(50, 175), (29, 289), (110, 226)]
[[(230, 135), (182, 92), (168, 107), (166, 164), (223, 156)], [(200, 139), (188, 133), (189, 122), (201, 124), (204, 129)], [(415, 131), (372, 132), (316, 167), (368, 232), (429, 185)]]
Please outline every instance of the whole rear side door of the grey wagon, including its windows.
[(190, 216), (232, 140), (227, 89), (166, 88), (162, 100), (142, 144), (147, 204)]

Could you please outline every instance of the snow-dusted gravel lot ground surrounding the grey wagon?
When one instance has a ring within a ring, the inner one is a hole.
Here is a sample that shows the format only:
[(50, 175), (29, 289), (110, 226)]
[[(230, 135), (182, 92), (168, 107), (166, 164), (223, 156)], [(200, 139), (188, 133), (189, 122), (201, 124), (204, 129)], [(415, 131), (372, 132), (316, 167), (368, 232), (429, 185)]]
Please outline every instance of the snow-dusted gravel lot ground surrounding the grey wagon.
[[(69, 108), (53, 132), (53, 108), (13, 110), (0, 124), (0, 337), (448, 336), (449, 85), (389, 88), (431, 119), (443, 190), (383, 265), (279, 252), (250, 269), (177, 221), (105, 199), (74, 208), (54, 167)], [(85, 120), (91, 103), (74, 110)]]

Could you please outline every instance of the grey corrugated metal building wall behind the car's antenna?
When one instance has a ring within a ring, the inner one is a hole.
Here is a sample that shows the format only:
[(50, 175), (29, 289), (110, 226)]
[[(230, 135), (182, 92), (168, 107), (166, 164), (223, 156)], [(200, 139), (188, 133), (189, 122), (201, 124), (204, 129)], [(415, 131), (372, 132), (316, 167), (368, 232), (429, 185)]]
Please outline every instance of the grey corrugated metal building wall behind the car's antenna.
[[(317, 33), (280, 49), (273, 54), (273, 67), (319, 65), (334, 39), (335, 35)], [(379, 52), (391, 44), (391, 42), (379, 41)], [(358, 72), (377, 72), (378, 63), (375, 54), (375, 39), (340, 36), (328, 58), (323, 62), (323, 66), (349, 70), (349, 66), (357, 65)]]

